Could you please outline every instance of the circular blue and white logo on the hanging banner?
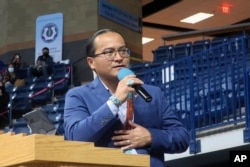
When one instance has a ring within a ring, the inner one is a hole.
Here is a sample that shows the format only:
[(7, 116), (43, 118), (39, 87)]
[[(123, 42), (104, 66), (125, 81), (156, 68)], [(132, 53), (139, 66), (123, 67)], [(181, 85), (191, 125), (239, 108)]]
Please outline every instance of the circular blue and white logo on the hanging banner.
[(58, 35), (58, 28), (55, 24), (49, 23), (42, 28), (41, 37), (44, 42), (53, 42)]

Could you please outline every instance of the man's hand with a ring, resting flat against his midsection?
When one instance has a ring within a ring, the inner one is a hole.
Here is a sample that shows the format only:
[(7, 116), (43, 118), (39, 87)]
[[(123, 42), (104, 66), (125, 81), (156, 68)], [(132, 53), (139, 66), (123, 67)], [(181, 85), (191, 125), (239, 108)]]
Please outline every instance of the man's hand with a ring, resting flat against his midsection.
[(152, 137), (150, 132), (133, 122), (129, 122), (132, 130), (117, 130), (115, 136), (112, 137), (115, 146), (121, 146), (122, 150), (145, 147), (150, 145)]

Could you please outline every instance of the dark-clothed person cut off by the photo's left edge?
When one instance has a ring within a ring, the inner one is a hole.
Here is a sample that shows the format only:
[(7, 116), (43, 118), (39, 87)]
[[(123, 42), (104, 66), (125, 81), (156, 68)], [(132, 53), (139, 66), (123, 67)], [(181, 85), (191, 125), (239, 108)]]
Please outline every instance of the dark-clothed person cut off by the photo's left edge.
[[(2, 81), (0, 81), (0, 118), (7, 115), (7, 107), (10, 101), (9, 93), (6, 92), (5, 86)], [(0, 120), (1, 126), (4, 120)]]

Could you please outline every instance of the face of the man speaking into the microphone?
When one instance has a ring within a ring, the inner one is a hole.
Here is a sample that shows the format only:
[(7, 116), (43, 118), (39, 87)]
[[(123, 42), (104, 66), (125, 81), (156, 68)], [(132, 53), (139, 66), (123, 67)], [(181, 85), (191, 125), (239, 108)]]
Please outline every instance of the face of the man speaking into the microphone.
[(129, 66), (129, 57), (121, 57), (117, 52), (118, 49), (126, 47), (124, 39), (120, 34), (115, 32), (107, 32), (96, 37), (94, 40), (95, 54), (102, 53), (104, 51), (116, 50), (114, 60), (107, 60), (104, 54), (100, 54), (97, 57), (88, 57), (88, 63), (92, 69), (95, 69), (96, 73), (100, 77), (104, 78), (116, 78), (118, 71), (122, 67)]

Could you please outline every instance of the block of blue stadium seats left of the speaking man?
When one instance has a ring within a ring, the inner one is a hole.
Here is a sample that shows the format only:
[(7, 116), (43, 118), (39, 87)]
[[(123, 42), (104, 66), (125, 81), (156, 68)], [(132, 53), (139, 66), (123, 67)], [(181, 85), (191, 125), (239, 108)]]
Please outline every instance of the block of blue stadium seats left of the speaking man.
[(41, 108), (55, 125), (57, 134), (63, 134), (64, 95), (71, 84), (71, 65), (54, 64), (52, 75), (44, 73), (38, 78), (32, 76), (30, 67), (22, 68), (18, 72), (26, 80), (26, 85), (9, 90), (9, 126), (4, 131), (30, 134), (30, 129), (22, 116)]

